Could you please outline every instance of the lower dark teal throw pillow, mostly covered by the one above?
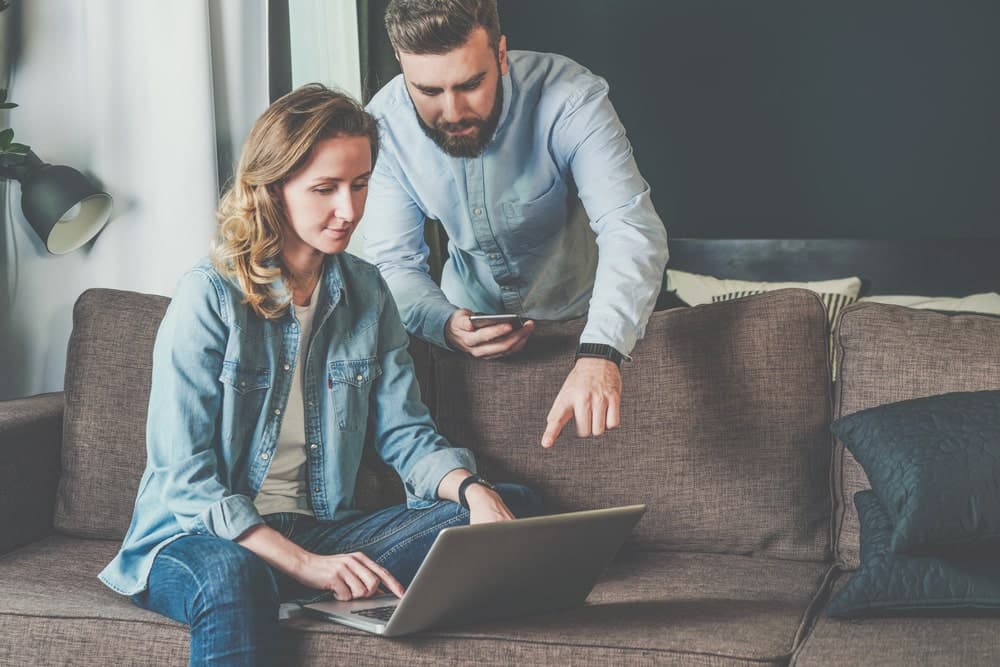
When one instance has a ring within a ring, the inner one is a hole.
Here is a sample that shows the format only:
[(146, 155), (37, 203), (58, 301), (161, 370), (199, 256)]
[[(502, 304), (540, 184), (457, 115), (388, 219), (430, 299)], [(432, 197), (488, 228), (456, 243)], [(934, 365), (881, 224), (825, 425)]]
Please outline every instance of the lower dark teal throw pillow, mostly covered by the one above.
[(872, 491), (854, 495), (861, 519), (861, 567), (827, 605), (856, 617), (959, 609), (1000, 610), (1000, 559), (907, 556), (890, 547), (892, 522)]

